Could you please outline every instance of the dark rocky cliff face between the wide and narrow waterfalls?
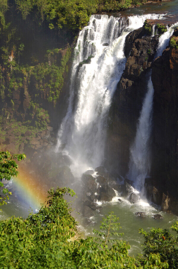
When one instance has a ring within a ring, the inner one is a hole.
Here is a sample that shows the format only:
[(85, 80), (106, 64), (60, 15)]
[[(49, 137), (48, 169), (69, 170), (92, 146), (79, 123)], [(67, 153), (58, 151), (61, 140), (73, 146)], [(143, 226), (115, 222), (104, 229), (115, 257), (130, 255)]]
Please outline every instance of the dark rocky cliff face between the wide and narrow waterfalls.
[(130, 146), (147, 89), (148, 73), (158, 46), (158, 35), (148, 36), (144, 27), (134, 30), (125, 40), (127, 62), (117, 85), (110, 111), (107, 141), (109, 166), (125, 176), (128, 171)]

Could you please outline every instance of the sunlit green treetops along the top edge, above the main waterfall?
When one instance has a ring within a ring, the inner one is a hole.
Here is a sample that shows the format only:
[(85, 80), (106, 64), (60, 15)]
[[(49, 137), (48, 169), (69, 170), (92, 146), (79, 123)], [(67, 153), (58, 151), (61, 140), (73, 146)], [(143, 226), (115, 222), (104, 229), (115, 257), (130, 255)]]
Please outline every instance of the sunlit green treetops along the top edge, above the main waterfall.
[[(140, 0), (15, 0), (23, 19), (31, 12), (37, 13), (41, 22), (49, 22), (49, 28), (81, 29), (86, 26), (90, 15), (96, 12), (119, 11), (131, 5), (140, 4)], [(39, 21), (38, 21), (39, 22)]]

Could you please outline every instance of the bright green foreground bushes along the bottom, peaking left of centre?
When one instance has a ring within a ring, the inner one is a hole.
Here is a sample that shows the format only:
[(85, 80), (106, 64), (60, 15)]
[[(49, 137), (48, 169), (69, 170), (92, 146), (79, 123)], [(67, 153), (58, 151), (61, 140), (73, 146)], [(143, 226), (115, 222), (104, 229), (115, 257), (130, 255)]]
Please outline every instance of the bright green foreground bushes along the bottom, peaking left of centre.
[[(113, 212), (103, 218), (101, 231), (93, 230), (96, 236), (72, 240), (77, 223), (64, 196), (74, 196), (74, 191), (57, 188), (48, 194), (36, 214), (0, 221), (0, 268), (168, 268), (162, 253), (129, 257), (130, 246), (119, 239), (120, 223)], [(177, 227), (175, 223), (172, 230), (178, 232)]]

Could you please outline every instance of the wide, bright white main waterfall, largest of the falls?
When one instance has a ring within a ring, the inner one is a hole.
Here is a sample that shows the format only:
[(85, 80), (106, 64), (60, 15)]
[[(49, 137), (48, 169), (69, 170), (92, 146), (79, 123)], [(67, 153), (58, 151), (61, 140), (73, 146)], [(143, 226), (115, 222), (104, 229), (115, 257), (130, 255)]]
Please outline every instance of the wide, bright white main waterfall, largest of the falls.
[(125, 68), (127, 34), (145, 19), (162, 15), (118, 18), (93, 15), (79, 33), (71, 71), (69, 105), (58, 131), (56, 150), (70, 156), (71, 170), (80, 176), (101, 165), (112, 96)]

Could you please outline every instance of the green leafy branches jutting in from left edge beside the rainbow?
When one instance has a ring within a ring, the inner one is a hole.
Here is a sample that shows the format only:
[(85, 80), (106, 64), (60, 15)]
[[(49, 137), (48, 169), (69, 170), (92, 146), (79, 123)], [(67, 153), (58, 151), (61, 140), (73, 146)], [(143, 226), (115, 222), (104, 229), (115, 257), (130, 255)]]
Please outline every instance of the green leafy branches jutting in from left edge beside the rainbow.
[(4, 187), (4, 184), (1, 182), (3, 179), (10, 180), (11, 177), (18, 175), (18, 165), (16, 160), (21, 161), (26, 158), (25, 154), (13, 154), (11, 155), (8, 151), (0, 152), (0, 187), (2, 188), (2, 193), (0, 196), (0, 206), (7, 204), (6, 199), (9, 199), (9, 195), (12, 193)]

